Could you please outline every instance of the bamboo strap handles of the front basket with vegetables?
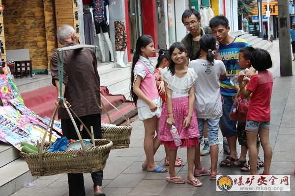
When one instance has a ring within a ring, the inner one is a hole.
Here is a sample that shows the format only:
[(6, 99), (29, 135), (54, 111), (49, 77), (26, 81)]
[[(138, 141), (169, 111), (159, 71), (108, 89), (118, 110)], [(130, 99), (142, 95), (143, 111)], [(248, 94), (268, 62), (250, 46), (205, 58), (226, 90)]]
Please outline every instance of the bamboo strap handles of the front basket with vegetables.
[[(85, 156), (85, 160), (86, 160), (86, 163), (87, 163), (87, 166), (88, 166), (89, 172), (92, 173), (92, 169), (91, 169), (91, 167), (90, 167), (90, 162), (89, 162), (89, 158), (88, 158), (88, 155), (87, 155), (87, 152), (86, 152), (86, 148), (85, 148), (85, 146), (83, 145), (83, 141), (82, 141), (82, 138), (81, 138), (80, 132), (79, 132), (79, 130), (78, 130), (78, 127), (77, 127), (77, 125), (76, 125), (76, 123), (75, 123), (75, 121), (74, 121), (74, 118), (73, 118), (73, 116), (72, 116), (72, 114), (71, 114), (69, 108), (67, 107), (66, 103), (63, 103), (63, 104), (64, 104), (65, 109), (67, 110), (67, 112), (68, 112), (68, 114), (69, 114), (69, 116), (70, 116), (70, 119), (72, 120), (72, 123), (73, 123), (73, 125), (74, 125), (74, 127), (75, 127), (76, 133), (77, 133), (78, 138), (79, 138), (79, 141), (80, 141), (80, 143), (81, 143), (81, 147), (82, 147), (82, 150), (83, 150), (83, 154), (84, 154), (84, 156)], [(48, 133), (49, 128), (50, 128), (50, 138), (51, 138), (52, 129), (53, 129), (53, 123), (54, 123), (54, 119), (55, 119), (55, 117), (56, 117), (57, 109), (58, 109), (58, 105), (56, 106), (55, 111), (54, 111), (54, 113), (53, 113), (53, 115), (52, 115), (52, 117), (51, 117), (51, 119), (50, 119), (50, 121), (49, 121), (49, 123), (48, 123), (48, 125), (47, 125), (46, 131), (45, 131), (45, 133), (44, 133), (44, 136), (43, 136), (43, 139), (42, 139), (42, 142), (41, 142), (40, 148), (39, 148), (39, 167), (40, 167), (40, 176), (43, 176), (43, 175), (44, 175), (44, 173), (43, 173), (43, 161), (42, 161), (42, 150), (43, 150), (43, 147), (44, 147), (45, 138), (46, 138), (46, 136), (47, 136), (47, 133)], [(71, 111), (73, 112), (73, 110), (71, 110)], [(75, 115), (76, 115), (76, 114), (75, 114)], [(79, 119), (79, 120), (80, 120), (80, 119)], [(81, 122), (81, 120), (80, 120), (80, 122)], [(82, 123), (82, 122), (81, 122), (81, 123)], [(83, 125), (85, 126), (85, 124), (83, 124)], [(89, 130), (88, 130), (88, 132), (89, 132)], [(90, 132), (89, 132), (89, 134), (90, 134)], [(91, 136), (91, 134), (90, 134), (90, 136)], [(51, 143), (50, 143), (50, 144), (51, 144)]]

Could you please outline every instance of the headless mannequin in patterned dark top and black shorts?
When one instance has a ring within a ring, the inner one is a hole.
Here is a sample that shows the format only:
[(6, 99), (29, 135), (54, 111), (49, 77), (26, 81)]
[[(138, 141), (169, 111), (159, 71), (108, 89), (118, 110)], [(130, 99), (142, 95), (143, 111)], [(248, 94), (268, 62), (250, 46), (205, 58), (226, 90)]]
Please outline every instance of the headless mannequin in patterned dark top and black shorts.
[[(93, 0), (92, 3), (93, 3), (92, 4), (93, 18), (95, 23), (96, 34), (98, 37), (98, 45), (101, 51), (101, 61), (102, 62), (106, 61), (105, 47), (104, 47), (104, 43), (101, 36), (101, 30), (102, 30), (103, 37), (111, 53), (111, 61), (114, 62), (113, 46), (112, 46), (112, 42), (110, 40), (109, 32), (108, 32), (108, 25), (110, 24), (109, 0)], [(103, 5), (104, 7), (101, 5)]]

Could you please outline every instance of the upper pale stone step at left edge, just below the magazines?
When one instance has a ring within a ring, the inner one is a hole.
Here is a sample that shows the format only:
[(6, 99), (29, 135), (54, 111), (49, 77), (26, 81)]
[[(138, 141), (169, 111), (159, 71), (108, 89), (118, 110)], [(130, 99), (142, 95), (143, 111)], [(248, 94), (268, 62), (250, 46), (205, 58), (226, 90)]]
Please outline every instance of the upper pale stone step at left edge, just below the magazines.
[(18, 159), (20, 151), (10, 144), (0, 141), (0, 168)]

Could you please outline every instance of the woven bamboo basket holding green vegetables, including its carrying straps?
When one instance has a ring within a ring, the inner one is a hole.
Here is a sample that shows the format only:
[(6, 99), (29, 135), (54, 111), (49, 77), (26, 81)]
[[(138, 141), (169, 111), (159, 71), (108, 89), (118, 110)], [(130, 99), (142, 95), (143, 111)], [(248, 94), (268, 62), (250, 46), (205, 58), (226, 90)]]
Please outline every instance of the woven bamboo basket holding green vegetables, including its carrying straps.
[[(41, 144), (37, 143), (38, 153), (24, 153), (21, 156), (26, 160), (32, 176), (47, 176), (59, 173), (92, 173), (102, 171), (106, 165), (109, 153), (113, 146), (110, 140), (94, 139), (85, 124), (77, 117), (72, 109), (68, 108), (64, 103), (68, 114), (73, 122), (77, 132), (82, 150), (66, 150), (58, 152), (43, 152), (42, 149), (47, 149), (52, 146), (52, 142), (45, 142), (48, 130), (50, 130), (49, 141), (51, 141), (52, 127), (57, 113), (58, 106), (56, 107), (50, 122), (48, 123), (47, 130), (44, 133)], [(73, 119), (71, 112), (78, 118), (78, 120), (86, 128), (87, 132), (92, 138), (94, 147), (85, 148), (83, 141), (78, 130), (78, 127)], [(93, 132), (91, 127), (91, 132)]]

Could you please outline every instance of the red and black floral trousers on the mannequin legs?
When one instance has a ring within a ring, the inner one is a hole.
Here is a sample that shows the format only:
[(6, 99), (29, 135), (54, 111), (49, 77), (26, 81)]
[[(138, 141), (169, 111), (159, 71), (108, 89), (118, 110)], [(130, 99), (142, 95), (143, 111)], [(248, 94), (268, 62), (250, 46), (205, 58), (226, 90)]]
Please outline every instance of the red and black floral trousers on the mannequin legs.
[(115, 50), (125, 51), (127, 47), (127, 34), (124, 21), (115, 21)]

